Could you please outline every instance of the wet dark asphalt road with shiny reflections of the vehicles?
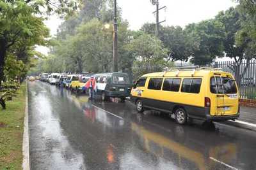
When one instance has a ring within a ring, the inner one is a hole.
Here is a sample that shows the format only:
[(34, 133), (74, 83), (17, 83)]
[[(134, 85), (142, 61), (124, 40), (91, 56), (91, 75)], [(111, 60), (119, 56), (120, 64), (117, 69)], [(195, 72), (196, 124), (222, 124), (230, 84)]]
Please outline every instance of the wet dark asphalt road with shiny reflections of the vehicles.
[(256, 169), (256, 132), (178, 125), (133, 104), (29, 82), (31, 169)]

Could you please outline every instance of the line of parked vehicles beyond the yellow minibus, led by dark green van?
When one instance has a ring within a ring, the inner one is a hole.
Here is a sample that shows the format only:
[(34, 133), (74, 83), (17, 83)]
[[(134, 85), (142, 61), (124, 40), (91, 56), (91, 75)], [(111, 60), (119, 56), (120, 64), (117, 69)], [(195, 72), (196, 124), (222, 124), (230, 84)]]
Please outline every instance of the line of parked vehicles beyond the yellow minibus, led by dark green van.
[(102, 101), (110, 97), (118, 97), (122, 102), (125, 97), (130, 96), (132, 83), (127, 73), (101, 73), (101, 74), (60, 74), (42, 73), (39, 75), (41, 81), (46, 81), (51, 85), (64, 87), (68, 90), (88, 94), (85, 83), (91, 78), (95, 78), (97, 83), (97, 94)]

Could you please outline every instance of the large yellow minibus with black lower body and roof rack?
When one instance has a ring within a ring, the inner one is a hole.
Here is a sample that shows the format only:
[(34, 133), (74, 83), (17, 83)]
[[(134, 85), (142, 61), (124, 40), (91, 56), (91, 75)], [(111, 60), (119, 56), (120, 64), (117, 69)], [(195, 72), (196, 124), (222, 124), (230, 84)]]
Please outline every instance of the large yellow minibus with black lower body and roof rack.
[(239, 92), (231, 73), (212, 67), (179, 67), (141, 76), (131, 90), (131, 101), (146, 109), (173, 114), (179, 124), (188, 120), (235, 120)]

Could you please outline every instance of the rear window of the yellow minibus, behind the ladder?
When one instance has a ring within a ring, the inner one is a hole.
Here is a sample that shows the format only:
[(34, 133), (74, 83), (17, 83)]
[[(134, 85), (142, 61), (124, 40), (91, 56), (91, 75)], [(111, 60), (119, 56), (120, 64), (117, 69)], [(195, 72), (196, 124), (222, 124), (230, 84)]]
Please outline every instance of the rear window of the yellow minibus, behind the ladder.
[[(223, 85), (221, 85), (221, 79)], [(224, 91), (223, 91), (224, 90)], [(228, 77), (216, 76), (211, 78), (211, 92), (214, 94), (236, 94), (236, 81)]]

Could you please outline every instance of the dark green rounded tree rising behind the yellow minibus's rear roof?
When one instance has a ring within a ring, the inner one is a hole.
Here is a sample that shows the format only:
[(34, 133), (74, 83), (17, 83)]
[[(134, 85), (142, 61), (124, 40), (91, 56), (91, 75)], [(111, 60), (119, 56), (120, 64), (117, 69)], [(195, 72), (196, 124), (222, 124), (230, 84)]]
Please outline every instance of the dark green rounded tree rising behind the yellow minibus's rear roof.
[(212, 19), (189, 24), (185, 31), (195, 44), (191, 59), (194, 64), (209, 64), (215, 57), (223, 56), (223, 39), (226, 34), (220, 21)]

